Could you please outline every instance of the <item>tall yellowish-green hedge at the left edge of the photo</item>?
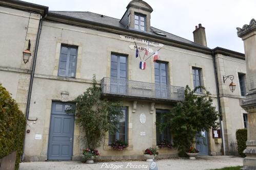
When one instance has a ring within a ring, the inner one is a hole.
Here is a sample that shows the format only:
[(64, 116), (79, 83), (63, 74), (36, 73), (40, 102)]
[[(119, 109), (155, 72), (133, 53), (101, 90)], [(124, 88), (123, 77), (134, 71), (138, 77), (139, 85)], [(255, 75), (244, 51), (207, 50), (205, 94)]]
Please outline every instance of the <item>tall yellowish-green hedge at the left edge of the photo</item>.
[(16, 151), (16, 170), (23, 152), (25, 128), (25, 115), (18, 109), (9, 92), (0, 84), (0, 158)]

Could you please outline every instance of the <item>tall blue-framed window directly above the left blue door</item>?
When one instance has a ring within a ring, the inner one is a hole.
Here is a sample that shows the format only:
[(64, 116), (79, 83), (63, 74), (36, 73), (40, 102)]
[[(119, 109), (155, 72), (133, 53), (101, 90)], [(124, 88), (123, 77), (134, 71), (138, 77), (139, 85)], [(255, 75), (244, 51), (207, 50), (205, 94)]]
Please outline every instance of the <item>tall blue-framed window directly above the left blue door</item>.
[(61, 46), (60, 62), (58, 63), (58, 76), (75, 77), (77, 47)]

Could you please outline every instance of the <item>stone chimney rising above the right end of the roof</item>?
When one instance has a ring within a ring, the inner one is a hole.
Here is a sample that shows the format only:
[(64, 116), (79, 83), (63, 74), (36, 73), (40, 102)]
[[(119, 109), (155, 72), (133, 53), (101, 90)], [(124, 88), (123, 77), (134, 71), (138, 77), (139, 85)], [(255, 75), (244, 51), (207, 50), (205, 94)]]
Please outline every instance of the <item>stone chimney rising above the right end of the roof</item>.
[(193, 31), (194, 42), (207, 46), (206, 36), (205, 36), (205, 28), (202, 27), (201, 23), (198, 26), (195, 26), (195, 30)]

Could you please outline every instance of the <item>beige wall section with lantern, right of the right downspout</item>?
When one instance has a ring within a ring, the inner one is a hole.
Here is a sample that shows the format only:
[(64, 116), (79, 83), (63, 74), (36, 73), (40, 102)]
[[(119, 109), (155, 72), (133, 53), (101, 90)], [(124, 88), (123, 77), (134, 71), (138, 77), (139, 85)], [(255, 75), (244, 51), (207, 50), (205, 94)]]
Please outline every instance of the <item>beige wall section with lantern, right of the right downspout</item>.
[[(245, 60), (216, 55), (216, 65), (218, 67), (218, 78), (220, 87), (220, 100), (223, 114), (223, 128), (225, 137), (226, 154), (232, 154), (232, 142), (236, 142), (235, 131), (244, 128), (243, 113), (246, 111), (240, 107), (240, 100), (245, 99), (241, 95), (239, 74), (246, 74)], [(223, 82), (223, 76), (233, 75), (233, 82), (237, 85), (233, 92), (229, 89), (230, 79)], [(246, 81), (245, 81), (246, 86)]]

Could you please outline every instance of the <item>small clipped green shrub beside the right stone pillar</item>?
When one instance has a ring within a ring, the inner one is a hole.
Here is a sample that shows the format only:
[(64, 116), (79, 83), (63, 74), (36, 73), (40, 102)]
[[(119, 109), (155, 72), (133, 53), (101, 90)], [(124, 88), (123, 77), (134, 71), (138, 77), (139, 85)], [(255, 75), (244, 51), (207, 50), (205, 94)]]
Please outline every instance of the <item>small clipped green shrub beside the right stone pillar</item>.
[(246, 149), (247, 129), (238, 129), (237, 132), (235, 132), (235, 136), (238, 142), (238, 153), (240, 156), (245, 157), (243, 151)]

